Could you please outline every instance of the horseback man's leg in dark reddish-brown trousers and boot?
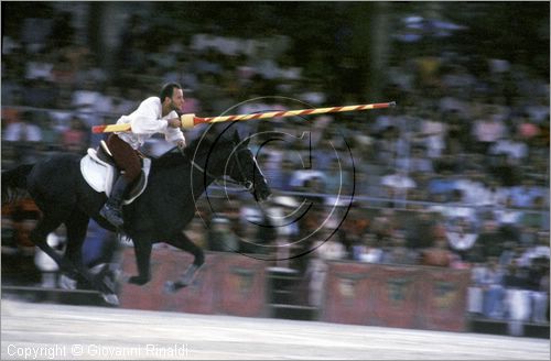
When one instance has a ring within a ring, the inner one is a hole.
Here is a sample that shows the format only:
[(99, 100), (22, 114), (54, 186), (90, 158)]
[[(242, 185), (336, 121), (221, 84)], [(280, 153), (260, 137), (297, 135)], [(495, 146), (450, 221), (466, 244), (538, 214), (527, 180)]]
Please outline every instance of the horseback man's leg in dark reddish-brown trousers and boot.
[(128, 185), (140, 175), (141, 164), (136, 151), (117, 134), (109, 135), (107, 145), (112, 153), (115, 163), (125, 173), (115, 182), (111, 195), (99, 214), (111, 225), (119, 228), (123, 225), (122, 200), (125, 192)]

